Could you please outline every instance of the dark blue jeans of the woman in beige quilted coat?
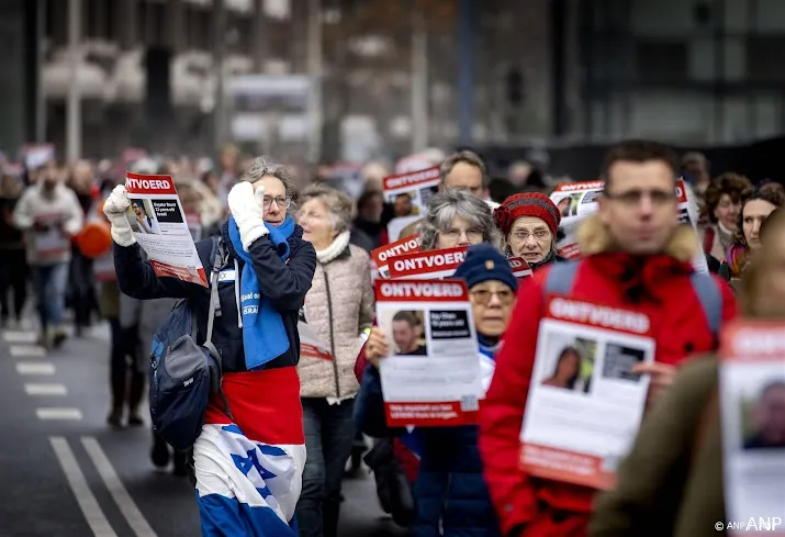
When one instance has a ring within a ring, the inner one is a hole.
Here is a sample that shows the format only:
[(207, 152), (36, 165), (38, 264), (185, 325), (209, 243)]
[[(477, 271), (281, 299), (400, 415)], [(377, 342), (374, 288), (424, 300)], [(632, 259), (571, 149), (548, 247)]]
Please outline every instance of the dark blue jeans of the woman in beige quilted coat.
[(295, 512), (300, 537), (336, 537), (340, 484), (355, 443), (355, 400), (330, 405), (305, 398), (302, 403), (306, 459)]

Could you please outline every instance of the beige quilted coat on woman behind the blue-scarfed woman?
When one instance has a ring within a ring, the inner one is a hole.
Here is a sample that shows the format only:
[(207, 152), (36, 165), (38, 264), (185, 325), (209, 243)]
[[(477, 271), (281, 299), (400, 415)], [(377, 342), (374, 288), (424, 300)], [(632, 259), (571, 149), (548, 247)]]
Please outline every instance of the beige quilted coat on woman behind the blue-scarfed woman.
[(300, 358), (301, 396), (343, 399), (359, 391), (355, 361), (362, 346), (360, 334), (373, 324), (373, 317), (370, 257), (363, 249), (345, 245), (334, 259), (316, 264), (313, 286), (305, 295), (305, 318), (334, 361)]

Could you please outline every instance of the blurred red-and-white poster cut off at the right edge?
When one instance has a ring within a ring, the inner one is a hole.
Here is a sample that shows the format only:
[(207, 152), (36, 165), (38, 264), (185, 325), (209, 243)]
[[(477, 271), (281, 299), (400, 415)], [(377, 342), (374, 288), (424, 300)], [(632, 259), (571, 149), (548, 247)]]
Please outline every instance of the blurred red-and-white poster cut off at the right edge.
[(737, 321), (721, 335), (725, 503), (730, 535), (785, 535), (785, 325)]

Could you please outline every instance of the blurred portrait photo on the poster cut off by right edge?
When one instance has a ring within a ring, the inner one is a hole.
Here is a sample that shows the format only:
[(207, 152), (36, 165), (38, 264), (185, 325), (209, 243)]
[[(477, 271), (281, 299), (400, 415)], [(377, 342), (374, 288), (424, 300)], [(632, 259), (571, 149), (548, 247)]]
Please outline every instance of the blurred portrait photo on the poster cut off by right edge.
[(772, 376), (739, 398), (744, 450), (785, 451), (785, 376)]

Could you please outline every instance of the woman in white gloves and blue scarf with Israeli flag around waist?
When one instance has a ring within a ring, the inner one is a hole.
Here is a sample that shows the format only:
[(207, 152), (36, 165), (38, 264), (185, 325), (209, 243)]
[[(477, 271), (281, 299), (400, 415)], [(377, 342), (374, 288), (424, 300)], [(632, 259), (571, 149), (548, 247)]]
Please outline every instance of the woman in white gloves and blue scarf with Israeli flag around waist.
[[(211, 400), (193, 445), (204, 536), (295, 536), (305, 463), (298, 322), (316, 268), (314, 247), (289, 214), (295, 198), (289, 170), (258, 157), (228, 194), (232, 216), (217, 240), (197, 243), (209, 280), (215, 256), (226, 251), (215, 280), (220, 315), (212, 343), (222, 357), (232, 413), (231, 418), (222, 402)], [(103, 206), (120, 290), (139, 300), (186, 299), (195, 314), (195, 343), (204, 344), (211, 289), (155, 273), (125, 216), (130, 205), (121, 184)]]

